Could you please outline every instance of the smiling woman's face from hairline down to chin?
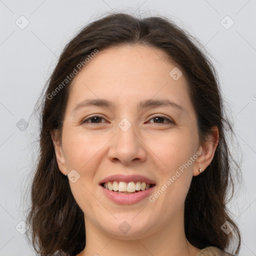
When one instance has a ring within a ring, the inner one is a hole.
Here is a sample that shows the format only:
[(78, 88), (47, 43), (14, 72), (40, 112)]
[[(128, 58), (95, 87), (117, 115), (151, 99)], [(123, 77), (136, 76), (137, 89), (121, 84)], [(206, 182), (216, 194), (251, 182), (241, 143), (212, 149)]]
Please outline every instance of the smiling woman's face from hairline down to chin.
[[(73, 79), (55, 151), (85, 226), (128, 239), (183, 222), (191, 178), (211, 159), (198, 156), (203, 148), (195, 112), (184, 75), (169, 74), (175, 66), (160, 49), (113, 47), (99, 51)], [(110, 104), (86, 105), (89, 99)], [(126, 186), (149, 179), (149, 193), (112, 191), (109, 197), (100, 183), (115, 174), (143, 176), (131, 177)], [(125, 234), (122, 227), (130, 230)]]

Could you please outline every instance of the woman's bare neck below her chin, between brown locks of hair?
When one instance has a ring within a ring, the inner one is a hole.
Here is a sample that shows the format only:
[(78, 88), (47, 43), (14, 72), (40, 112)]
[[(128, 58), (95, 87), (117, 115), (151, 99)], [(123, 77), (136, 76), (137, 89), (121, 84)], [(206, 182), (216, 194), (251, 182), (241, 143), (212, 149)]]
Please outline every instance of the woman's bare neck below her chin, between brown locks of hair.
[(85, 217), (86, 245), (76, 256), (194, 256), (200, 249), (187, 241), (183, 215), (180, 215), (157, 230), (150, 229), (150, 233), (132, 233), (125, 237), (110, 234)]

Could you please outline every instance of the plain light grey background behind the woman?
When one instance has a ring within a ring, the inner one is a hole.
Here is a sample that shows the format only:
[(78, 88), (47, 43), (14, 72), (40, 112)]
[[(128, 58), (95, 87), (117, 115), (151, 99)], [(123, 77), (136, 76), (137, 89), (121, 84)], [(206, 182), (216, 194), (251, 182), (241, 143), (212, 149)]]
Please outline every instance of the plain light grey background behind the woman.
[(167, 15), (212, 56), (242, 151), (243, 188), (228, 207), (241, 229), (240, 255), (256, 255), (255, 0), (0, 0), (0, 256), (35, 255), (20, 221), (38, 152), (38, 125), (29, 118), (36, 99), (65, 43), (112, 9)]

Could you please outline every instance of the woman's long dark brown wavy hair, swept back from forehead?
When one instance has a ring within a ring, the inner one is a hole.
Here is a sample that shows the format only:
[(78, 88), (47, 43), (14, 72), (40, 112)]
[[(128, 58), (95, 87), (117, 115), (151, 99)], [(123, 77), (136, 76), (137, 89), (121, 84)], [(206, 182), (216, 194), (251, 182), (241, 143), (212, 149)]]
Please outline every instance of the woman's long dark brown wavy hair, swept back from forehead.
[[(205, 141), (216, 126), (219, 141), (207, 168), (193, 176), (184, 204), (184, 228), (187, 240), (197, 248), (216, 246), (222, 250), (235, 242), (240, 249), (240, 232), (228, 212), (229, 189), (234, 192), (234, 177), (240, 167), (233, 160), (227, 135), (233, 134), (224, 112), (219, 80), (199, 42), (173, 21), (162, 16), (138, 18), (127, 13), (108, 13), (90, 22), (66, 44), (45, 84), (40, 111), (39, 155), (31, 184), (31, 205), (26, 222), (30, 239), (42, 256), (61, 251), (75, 255), (85, 246), (84, 216), (66, 178), (59, 170), (50, 132), (58, 131), (70, 90), (70, 79), (59, 91), (56, 88), (73, 72), (78, 63), (91, 54), (111, 46), (144, 45), (161, 49), (185, 76), (189, 96), (196, 112), (200, 141)], [(86, 66), (85, 66), (86, 68)], [(58, 87), (60, 88), (60, 87)], [(53, 95), (53, 91), (56, 93)], [(38, 103), (38, 102), (37, 102)], [(232, 164), (234, 163), (234, 164)], [(233, 230), (226, 234), (221, 225), (229, 221)]]

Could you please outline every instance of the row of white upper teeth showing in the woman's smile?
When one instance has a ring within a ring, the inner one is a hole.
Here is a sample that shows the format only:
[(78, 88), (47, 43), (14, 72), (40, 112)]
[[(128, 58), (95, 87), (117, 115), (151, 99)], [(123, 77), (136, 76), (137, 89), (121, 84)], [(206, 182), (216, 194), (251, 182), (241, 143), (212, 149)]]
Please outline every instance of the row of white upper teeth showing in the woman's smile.
[(124, 182), (124, 181), (108, 181), (106, 183), (103, 183), (103, 186), (108, 190), (113, 191), (119, 191), (119, 192), (135, 192), (139, 190), (145, 190), (150, 187), (150, 184), (146, 182), (140, 182), (140, 181), (130, 181), (130, 182)]

